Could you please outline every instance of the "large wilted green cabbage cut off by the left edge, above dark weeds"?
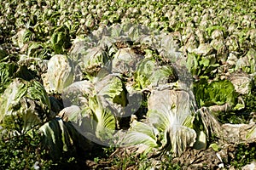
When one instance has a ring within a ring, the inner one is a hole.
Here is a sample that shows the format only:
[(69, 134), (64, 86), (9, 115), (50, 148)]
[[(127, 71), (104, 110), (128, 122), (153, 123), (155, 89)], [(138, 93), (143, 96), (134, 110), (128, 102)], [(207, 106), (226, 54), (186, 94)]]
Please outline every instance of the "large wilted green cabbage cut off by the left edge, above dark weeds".
[(15, 133), (26, 133), (51, 118), (49, 98), (37, 81), (14, 79), (4, 91), (0, 104), (1, 126), (16, 129)]

